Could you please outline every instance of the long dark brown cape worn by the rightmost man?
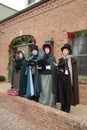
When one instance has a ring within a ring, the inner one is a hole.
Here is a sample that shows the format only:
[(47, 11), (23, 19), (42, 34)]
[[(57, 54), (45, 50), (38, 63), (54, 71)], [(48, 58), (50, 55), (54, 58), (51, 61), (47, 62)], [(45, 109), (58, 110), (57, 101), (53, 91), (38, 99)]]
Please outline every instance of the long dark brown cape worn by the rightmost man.
[[(63, 58), (59, 59), (59, 65), (63, 65), (64, 60)], [(71, 64), (72, 64), (72, 75), (73, 75), (73, 87), (71, 86), (71, 79), (70, 74), (68, 75), (68, 104), (70, 105), (76, 105), (79, 104), (79, 91), (78, 91), (78, 73), (77, 73), (77, 62), (75, 58), (71, 57)], [(64, 99), (61, 91), (61, 85), (60, 85), (60, 78), (61, 74), (58, 74), (58, 85), (57, 85), (57, 102), (60, 102), (64, 104)]]

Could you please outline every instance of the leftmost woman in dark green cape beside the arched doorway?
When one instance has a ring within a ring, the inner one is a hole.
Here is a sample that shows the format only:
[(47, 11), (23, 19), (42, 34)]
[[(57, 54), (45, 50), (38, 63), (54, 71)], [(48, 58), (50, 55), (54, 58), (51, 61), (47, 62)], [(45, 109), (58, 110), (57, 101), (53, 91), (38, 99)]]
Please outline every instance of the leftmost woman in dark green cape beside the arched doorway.
[(12, 74), (12, 87), (11, 89), (18, 90), (19, 96), (26, 94), (26, 59), (24, 51), (17, 52), (17, 58), (14, 59), (13, 74)]

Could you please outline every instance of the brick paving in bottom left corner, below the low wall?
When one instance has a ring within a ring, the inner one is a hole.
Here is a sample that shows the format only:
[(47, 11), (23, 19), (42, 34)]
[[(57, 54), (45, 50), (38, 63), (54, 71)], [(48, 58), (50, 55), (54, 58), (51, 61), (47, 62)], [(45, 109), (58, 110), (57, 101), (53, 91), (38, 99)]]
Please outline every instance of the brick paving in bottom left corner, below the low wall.
[(0, 103), (0, 130), (32, 130), (33, 128), (36, 126)]

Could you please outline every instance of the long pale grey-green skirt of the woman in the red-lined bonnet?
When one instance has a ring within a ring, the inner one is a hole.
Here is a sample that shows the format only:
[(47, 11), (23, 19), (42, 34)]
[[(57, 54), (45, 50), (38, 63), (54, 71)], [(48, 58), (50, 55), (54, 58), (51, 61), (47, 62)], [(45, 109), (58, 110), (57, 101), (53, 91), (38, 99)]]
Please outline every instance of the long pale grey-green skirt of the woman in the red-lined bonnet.
[(41, 92), (39, 103), (54, 107), (54, 94), (52, 93), (52, 75), (40, 75)]

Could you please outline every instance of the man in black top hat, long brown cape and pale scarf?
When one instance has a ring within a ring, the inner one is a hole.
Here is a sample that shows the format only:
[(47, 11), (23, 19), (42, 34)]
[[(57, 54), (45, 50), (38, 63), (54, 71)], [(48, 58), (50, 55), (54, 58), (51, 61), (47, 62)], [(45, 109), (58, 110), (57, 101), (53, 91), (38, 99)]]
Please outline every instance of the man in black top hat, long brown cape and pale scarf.
[(79, 104), (77, 61), (71, 55), (72, 48), (64, 44), (61, 48), (63, 57), (58, 63), (58, 102), (61, 110), (70, 112), (71, 105)]

